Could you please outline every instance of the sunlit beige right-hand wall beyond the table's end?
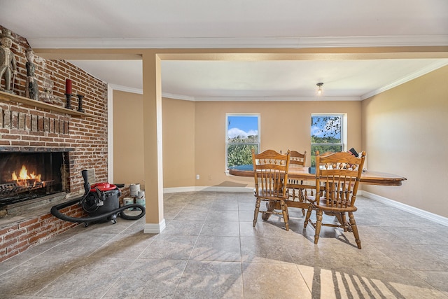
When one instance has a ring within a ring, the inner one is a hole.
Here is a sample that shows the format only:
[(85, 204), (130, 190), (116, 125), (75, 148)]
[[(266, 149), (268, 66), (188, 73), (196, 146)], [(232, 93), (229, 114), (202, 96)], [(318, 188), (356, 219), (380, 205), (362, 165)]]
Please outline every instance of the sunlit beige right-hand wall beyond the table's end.
[(363, 148), (371, 170), (400, 174), (401, 187), (363, 190), (448, 216), (448, 67), (363, 101)]

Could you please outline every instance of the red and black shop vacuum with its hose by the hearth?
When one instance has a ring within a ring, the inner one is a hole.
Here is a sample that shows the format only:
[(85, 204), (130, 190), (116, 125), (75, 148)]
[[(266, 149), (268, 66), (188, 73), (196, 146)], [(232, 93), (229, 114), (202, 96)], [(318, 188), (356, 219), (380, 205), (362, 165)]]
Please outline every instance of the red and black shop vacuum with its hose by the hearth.
[[(84, 179), (84, 195), (83, 197), (57, 204), (51, 208), (51, 214), (64, 221), (85, 223), (85, 226), (94, 221), (109, 220), (116, 223), (117, 216), (127, 220), (137, 220), (143, 217), (146, 209), (141, 204), (127, 204), (120, 207), (120, 189), (111, 183), (94, 183), (90, 186), (87, 181), (87, 170), (81, 172)], [(88, 217), (71, 217), (62, 214), (59, 210), (69, 207), (73, 204), (80, 204)], [(131, 211), (128, 214), (125, 211)], [(137, 214), (136, 214), (137, 211)], [(140, 213), (138, 212), (140, 211)]]

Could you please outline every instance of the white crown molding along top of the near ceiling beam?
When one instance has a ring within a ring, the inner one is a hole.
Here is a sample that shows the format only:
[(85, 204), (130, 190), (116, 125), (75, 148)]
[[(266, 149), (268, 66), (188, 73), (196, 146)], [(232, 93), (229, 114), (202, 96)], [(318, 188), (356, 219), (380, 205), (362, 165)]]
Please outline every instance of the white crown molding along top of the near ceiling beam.
[(341, 48), (448, 46), (448, 35), (284, 38), (27, 39), (32, 48)]

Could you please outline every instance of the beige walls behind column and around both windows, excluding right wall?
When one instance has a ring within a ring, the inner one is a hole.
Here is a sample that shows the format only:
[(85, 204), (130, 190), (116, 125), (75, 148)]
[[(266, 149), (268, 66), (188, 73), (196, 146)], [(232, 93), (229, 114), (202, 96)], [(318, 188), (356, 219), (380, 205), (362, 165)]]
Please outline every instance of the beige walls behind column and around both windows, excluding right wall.
[[(142, 132), (130, 123), (142, 123), (142, 96), (128, 92), (113, 95), (114, 176), (122, 175), (125, 183), (130, 179), (140, 182), (144, 179)], [(360, 102), (317, 99), (316, 102), (190, 102), (163, 98), (164, 188), (253, 186), (252, 179), (225, 174), (225, 113), (260, 113), (261, 150), (307, 151), (309, 164), (311, 113), (347, 113), (347, 146), (360, 148), (360, 109)], [(127, 142), (132, 146), (127, 146)], [(199, 180), (196, 174), (200, 175)]]

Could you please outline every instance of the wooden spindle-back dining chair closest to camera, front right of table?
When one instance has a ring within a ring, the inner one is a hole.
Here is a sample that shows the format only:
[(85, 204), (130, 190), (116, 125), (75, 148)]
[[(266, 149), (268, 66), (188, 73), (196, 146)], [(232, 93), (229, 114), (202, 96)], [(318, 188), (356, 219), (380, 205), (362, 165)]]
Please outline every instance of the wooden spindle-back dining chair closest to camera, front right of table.
[[(353, 232), (356, 245), (361, 249), (353, 212), (357, 210), (355, 206), (356, 193), (363, 172), (364, 160), (365, 152), (360, 154), (360, 158), (346, 152), (325, 156), (316, 153), (316, 194), (306, 197), (310, 206), (304, 221), (304, 228), (311, 223), (316, 230), (314, 244), (318, 242), (321, 225), (325, 225), (343, 228), (344, 232)], [(315, 223), (310, 219), (313, 210), (316, 211)], [(338, 223), (323, 223), (323, 214), (335, 216)]]

